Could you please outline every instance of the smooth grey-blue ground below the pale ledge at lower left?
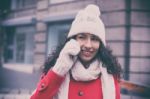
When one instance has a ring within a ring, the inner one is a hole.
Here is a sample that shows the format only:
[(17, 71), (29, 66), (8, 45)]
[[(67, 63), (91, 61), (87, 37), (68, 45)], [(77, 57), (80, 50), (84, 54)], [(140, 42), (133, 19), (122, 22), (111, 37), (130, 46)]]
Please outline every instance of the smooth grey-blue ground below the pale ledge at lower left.
[(0, 67), (0, 89), (29, 89), (33, 90), (39, 80), (40, 73), (25, 73)]

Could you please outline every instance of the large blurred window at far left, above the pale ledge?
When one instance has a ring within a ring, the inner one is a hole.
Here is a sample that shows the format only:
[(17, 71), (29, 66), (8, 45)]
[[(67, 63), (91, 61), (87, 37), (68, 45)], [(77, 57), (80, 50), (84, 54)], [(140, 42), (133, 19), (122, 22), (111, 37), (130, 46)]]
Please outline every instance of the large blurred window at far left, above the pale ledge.
[(34, 33), (33, 26), (16, 27), (7, 32), (5, 63), (33, 63)]

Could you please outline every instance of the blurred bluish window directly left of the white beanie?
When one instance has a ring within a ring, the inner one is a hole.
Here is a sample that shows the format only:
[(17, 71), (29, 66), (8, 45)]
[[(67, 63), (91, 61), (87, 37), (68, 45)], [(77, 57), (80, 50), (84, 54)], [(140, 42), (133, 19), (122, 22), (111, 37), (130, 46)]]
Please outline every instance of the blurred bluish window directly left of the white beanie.
[(51, 54), (60, 44), (65, 42), (70, 25), (71, 22), (58, 22), (49, 25), (47, 54)]

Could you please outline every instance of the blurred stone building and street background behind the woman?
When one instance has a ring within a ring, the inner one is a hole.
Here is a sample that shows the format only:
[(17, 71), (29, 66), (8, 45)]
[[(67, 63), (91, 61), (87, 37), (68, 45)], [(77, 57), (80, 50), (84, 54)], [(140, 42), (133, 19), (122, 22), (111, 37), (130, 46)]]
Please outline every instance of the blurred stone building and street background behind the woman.
[[(66, 39), (76, 13), (97, 4), (123, 79), (150, 86), (150, 0), (1, 0), (0, 99), (29, 99), (43, 62)], [(148, 92), (147, 92), (148, 93)], [(121, 90), (121, 99), (150, 99)]]

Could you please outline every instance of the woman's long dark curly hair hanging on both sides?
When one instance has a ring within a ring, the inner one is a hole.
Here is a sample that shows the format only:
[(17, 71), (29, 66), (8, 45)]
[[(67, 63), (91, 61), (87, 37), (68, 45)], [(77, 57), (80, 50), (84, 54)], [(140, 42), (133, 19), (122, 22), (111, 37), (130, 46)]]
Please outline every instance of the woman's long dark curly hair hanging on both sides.
[[(75, 36), (72, 38), (75, 39)], [(67, 39), (66, 42), (72, 38)], [(61, 46), (58, 47), (55, 51), (53, 51), (53, 53), (50, 54), (48, 56), (48, 58), (46, 59), (46, 61), (44, 63), (44, 68), (43, 68), (43, 72), (45, 74), (48, 72), (48, 70), (51, 67), (53, 67), (55, 65), (56, 60), (59, 56), (59, 53), (60, 53), (61, 49), (64, 47), (65, 43), (61, 44)], [(98, 51), (96, 57), (98, 58), (99, 61), (102, 62), (102, 66), (107, 68), (107, 72), (109, 74), (113, 74), (118, 79), (120, 79), (122, 70), (121, 70), (121, 66), (120, 66), (117, 58), (114, 55), (112, 55), (112, 50), (110, 50), (109, 47), (105, 47), (104, 44), (101, 42), (101, 40), (100, 40), (100, 44), (101, 45), (100, 45), (100, 48), (99, 48), (99, 51)]]

